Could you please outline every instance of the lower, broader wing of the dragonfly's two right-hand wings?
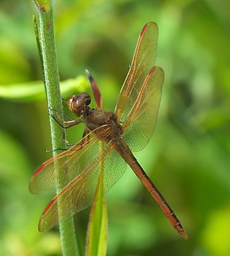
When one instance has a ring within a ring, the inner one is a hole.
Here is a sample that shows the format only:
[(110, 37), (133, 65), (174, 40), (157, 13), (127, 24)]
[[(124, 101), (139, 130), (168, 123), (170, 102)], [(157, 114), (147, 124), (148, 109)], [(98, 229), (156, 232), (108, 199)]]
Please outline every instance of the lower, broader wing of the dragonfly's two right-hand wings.
[(164, 71), (160, 67), (152, 68), (126, 116), (124, 139), (132, 151), (142, 150), (155, 131), (163, 81)]

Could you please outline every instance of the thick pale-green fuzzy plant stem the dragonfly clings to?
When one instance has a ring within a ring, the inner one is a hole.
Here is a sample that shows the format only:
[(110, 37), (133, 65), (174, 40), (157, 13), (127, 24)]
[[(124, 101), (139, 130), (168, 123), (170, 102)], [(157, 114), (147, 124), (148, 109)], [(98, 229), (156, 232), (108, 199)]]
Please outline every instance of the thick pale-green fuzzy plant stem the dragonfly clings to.
[[(45, 86), (47, 92), (47, 104), (58, 113), (63, 113), (63, 105), (60, 96), (60, 79), (57, 68), (57, 54), (55, 46), (55, 30), (52, 1), (34, 0), (40, 16), (40, 43), (42, 49), (42, 60), (44, 66)], [(62, 117), (62, 115), (60, 115)], [(52, 149), (65, 148), (65, 131), (50, 117), (50, 128), (52, 138)], [(64, 135), (64, 136), (63, 136)], [(53, 151), (55, 156), (57, 151)], [(64, 175), (57, 174), (57, 192), (65, 186)], [(61, 202), (58, 203), (61, 206)], [(62, 208), (58, 209), (62, 216)], [(78, 247), (75, 239), (75, 228), (73, 217), (67, 221), (60, 221), (60, 239), (63, 255), (78, 255)]]

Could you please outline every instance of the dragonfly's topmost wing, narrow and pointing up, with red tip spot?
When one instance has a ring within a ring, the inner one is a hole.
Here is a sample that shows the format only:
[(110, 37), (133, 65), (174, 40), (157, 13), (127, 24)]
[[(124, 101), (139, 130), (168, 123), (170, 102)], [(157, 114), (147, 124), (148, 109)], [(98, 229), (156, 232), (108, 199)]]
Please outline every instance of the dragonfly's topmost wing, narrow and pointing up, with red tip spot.
[(115, 107), (116, 115), (122, 123), (126, 120), (126, 116), (132, 109), (132, 105), (137, 100), (144, 79), (150, 69), (155, 66), (157, 36), (158, 28), (154, 22), (147, 23), (139, 35), (132, 64)]

